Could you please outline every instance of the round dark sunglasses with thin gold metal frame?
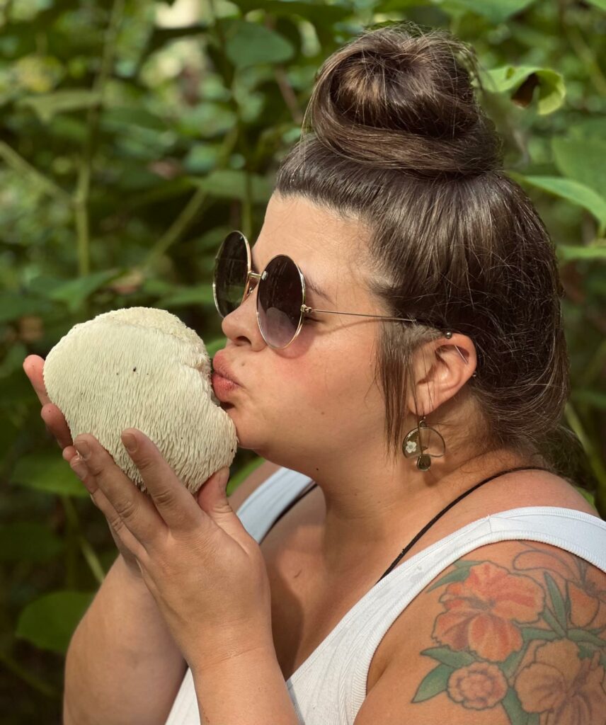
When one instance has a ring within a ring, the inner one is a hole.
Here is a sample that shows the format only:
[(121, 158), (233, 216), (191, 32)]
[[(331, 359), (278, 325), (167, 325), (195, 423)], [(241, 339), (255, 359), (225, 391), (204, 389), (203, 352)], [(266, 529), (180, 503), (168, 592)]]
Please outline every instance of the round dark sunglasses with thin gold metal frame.
[[(420, 318), (394, 318), (365, 315), (361, 312), (317, 310), (305, 305), (305, 278), (296, 262), (286, 254), (272, 257), (262, 273), (251, 268), (249, 242), (241, 231), (225, 237), (215, 257), (212, 293), (217, 312), (224, 318), (236, 310), (259, 285), (257, 293), (257, 324), (265, 342), (275, 349), (289, 347), (299, 335), (306, 315), (328, 312), (331, 315), (380, 318), (419, 323)], [(465, 360), (457, 347), (457, 352)], [(467, 363), (468, 361), (465, 360)]]

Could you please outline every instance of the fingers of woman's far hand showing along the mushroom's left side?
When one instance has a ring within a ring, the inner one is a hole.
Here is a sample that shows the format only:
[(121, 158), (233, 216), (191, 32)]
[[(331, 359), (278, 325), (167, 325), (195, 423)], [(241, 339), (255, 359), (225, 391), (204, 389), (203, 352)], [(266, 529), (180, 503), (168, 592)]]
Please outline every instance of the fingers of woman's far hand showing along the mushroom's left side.
[[(74, 464), (78, 462), (78, 451), (75, 450), (75, 448), (73, 447), (72, 434), (70, 433), (69, 426), (67, 426), (65, 416), (59, 410), (57, 405), (51, 403), (49, 395), (46, 392), (46, 386), (44, 385), (43, 377), (43, 367), (44, 360), (39, 355), (28, 355), (28, 357), (23, 360), (23, 370), (25, 370), (25, 374), (30, 379), (30, 383), (32, 384), (33, 389), (36, 391), (36, 395), (38, 396), (38, 399), (40, 400), (40, 403), (42, 405), (40, 415), (42, 420), (46, 424), (46, 430), (49, 431), (49, 433), (57, 439), (59, 447), (63, 450), (63, 457), (65, 458), (65, 460), (67, 460), (67, 463), (69, 463), (73, 468), (72, 462)], [(98, 489), (98, 486), (96, 486), (96, 481), (94, 480), (94, 476), (91, 476), (87, 481), (85, 481), (85, 485), (88, 491), (90, 491), (91, 489)], [(99, 493), (97, 494), (97, 500), (93, 499), (94, 503), (99, 506), (97, 501), (103, 498), (103, 493), (99, 491)], [(123, 545), (123, 543), (120, 541), (120, 538), (117, 536), (115, 529), (112, 526), (111, 522), (115, 521), (115, 519), (117, 518), (116, 512), (112, 510), (112, 505), (107, 500), (105, 500), (104, 502), (104, 507), (104, 513), (106, 511), (109, 512), (109, 515), (106, 514), (109, 531), (112, 534), (112, 539), (114, 539), (118, 551), (122, 555), (122, 558), (124, 559), (124, 562), (128, 567), (128, 571), (130, 571), (133, 576), (136, 576), (137, 579), (142, 579), (141, 569), (139, 569), (136, 558), (130, 553), (128, 548)]]

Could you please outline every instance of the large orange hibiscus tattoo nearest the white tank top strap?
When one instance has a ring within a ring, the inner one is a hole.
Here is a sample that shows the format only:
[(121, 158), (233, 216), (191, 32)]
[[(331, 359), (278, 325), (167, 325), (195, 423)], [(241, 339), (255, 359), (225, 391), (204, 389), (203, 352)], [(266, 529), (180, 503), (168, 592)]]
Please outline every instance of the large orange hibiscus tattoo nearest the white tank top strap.
[(436, 618), (433, 639), (453, 650), (471, 650), (502, 662), (523, 645), (515, 623), (534, 622), (544, 592), (529, 576), (510, 574), (491, 562), (472, 566), (465, 581), (449, 584), (440, 597), (447, 611)]

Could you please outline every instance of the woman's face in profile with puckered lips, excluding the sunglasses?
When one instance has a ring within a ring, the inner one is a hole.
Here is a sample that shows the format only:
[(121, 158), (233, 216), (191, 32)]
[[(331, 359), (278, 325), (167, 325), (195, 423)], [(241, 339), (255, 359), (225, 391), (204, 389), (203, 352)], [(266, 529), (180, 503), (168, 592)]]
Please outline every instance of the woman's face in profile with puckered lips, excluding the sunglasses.
[[(252, 268), (288, 254), (304, 278), (306, 305), (322, 310), (386, 314), (365, 287), (365, 232), (302, 196), (273, 194)], [(257, 287), (223, 319), (228, 338), (220, 357), (241, 386), (223, 396), (240, 446), (275, 463), (307, 469), (324, 457), (383, 443), (384, 405), (373, 381), (374, 346), (383, 324), (373, 318), (312, 312), (284, 349), (265, 343), (257, 326)], [(231, 404), (232, 407), (226, 404)], [(300, 463), (299, 463), (300, 462)]]

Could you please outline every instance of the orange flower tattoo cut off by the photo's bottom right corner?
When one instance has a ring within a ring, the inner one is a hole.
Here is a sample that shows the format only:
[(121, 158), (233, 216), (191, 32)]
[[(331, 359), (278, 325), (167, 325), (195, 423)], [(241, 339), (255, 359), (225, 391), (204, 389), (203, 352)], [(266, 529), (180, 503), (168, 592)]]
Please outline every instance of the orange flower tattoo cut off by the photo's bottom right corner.
[(599, 653), (580, 659), (570, 639), (541, 645), (534, 662), (520, 671), (515, 692), (540, 725), (606, 725), (604, 668)]

